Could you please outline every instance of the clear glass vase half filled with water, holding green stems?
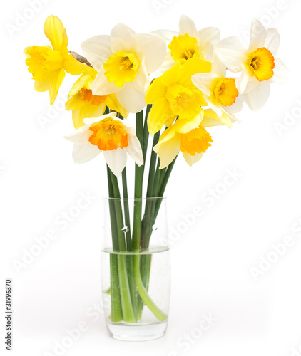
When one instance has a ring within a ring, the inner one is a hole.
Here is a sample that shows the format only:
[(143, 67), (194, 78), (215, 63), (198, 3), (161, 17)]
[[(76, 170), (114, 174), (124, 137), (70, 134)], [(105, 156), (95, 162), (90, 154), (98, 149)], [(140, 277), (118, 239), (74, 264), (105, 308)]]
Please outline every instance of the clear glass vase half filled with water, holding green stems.
[(162, 337), (170, 299), (165, 198), (104, 203), (101, 284), (108, 331), (118, 340)]

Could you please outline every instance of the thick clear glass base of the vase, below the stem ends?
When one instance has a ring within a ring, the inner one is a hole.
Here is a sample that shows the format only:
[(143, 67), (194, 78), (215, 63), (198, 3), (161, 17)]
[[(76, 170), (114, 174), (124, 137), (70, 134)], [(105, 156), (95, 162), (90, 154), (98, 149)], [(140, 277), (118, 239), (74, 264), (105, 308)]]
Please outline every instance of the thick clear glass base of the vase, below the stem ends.
[(165, 335), (167, 321), (156, 324), (120, 324), (107, 323), (108, 332), (116, 340), (123, 341), (148, 341), (155, 340)]

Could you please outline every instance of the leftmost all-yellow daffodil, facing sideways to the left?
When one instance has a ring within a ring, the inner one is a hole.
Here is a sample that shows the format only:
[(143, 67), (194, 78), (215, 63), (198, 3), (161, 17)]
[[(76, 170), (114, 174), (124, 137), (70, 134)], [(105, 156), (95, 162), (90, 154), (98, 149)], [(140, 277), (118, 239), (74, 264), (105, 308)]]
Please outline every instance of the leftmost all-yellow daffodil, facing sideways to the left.
[(44, 33), (51, 42), (52, 48), (51, 46), (26, 47), (25, 63), (29, 66), (29, 72), (35, 80), (34, 88), (42, 92), (49, 90), (52, 105), (65, 78), (65, 70), (72, 75), (79, 75), (86, 70), (86, 65), (76, 61), (68, 53), (66, 28), (58, 17), (51, 15), (46, 19)]

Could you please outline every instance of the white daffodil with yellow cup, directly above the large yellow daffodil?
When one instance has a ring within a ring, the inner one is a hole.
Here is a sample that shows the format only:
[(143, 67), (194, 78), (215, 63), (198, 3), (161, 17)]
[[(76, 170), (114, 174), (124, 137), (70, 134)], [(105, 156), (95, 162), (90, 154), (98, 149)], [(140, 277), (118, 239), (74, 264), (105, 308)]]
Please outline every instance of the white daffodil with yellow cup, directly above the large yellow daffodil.
[(179, 32), (158, 30), (153, 31), (156, 36), (163, 38), (168, 44), (163, 65), (160, 71), (164, 72), (175, 62), (188, 58), (201, 58), (213, 61), (214, 46), (220, 41), (220, 30), (215, 27), (207, 27), (198, 31), (195, 23), (188, 16), (180, 16)]

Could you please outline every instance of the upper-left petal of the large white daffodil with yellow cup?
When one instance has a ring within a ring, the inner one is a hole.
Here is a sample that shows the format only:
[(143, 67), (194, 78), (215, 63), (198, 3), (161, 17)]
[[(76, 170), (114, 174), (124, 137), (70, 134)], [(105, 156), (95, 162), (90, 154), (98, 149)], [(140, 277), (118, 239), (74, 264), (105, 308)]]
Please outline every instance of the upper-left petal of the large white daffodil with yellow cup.
[(91, 66), (97, 71), (101, 69), (103, 62), (112, 55), (110, 36), (100, 35), (88, 38), (81, 43), (83, 54)]

